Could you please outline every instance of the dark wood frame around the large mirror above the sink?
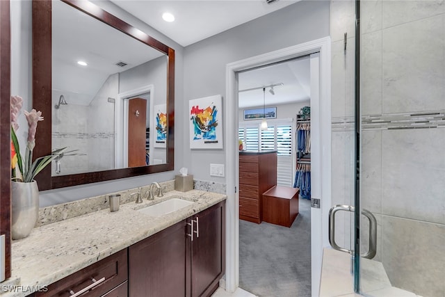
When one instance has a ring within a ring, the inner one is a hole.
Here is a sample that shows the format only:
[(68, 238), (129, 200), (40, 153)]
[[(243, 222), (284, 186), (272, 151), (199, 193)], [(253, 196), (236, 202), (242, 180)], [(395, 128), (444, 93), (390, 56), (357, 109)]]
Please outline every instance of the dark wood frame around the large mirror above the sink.
[[(175, 158), (175, 50), (85, 0), (61, 0), (83, 13), (129, 35), (168, 56), (167, 69), (167, 163), (51, 177), (51, 166), (36, 177), (40, 191), (111, 179), (174, 170)], [(33, 157), (51, 154), (51, 0), (33, 0), (33, 109), (42, 111)]]

